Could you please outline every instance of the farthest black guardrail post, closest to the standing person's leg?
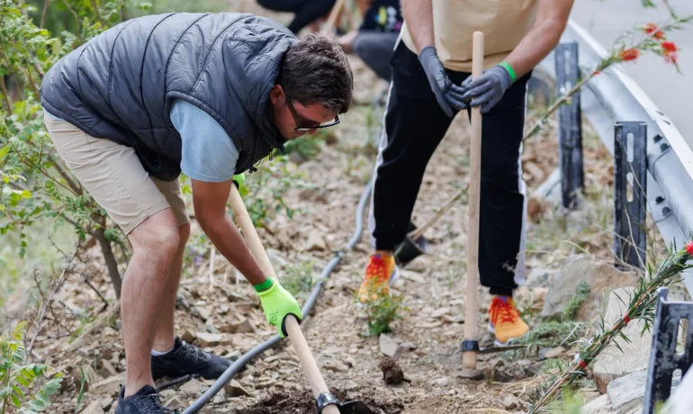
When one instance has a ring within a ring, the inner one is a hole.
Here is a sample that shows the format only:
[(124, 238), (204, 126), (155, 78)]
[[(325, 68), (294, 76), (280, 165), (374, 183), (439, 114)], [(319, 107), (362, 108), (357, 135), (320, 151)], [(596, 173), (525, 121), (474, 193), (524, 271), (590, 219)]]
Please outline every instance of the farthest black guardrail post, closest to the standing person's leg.
[[(561, 97), (580, 81), (578, 43), (558, 44), (555, 56), (556, 96)], [(558, 109), (558, 128), (563, 207), (573, 210), (577, 208), (579, 194), (584, 188), (580, 91), (572, 95), (570, 103)]]

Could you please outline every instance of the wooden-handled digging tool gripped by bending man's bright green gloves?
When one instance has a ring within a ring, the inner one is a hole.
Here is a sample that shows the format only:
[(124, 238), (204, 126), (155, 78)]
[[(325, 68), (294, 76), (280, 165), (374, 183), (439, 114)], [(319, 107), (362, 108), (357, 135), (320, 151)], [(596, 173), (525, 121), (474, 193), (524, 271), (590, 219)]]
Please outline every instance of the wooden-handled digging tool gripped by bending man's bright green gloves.
[[(253, 221), (247, 214), (246, 205), (240, 198), (236, 185), (231, 185), (231, 193), (229, 194), (229, 202), (233, 214), (238, 219), (240, 229), (243, 231), (247, 246), (250, 248), (253, 256), (256, 258), (260, 268), (265, 274), (272, 277), (276, 281), (279, 279), (275, 274), (275, 269), (267, 257), (265, 247), (262, 246), (260, 238), (257, 236), (257, 231), (253, 226)], [(349, 401), (340, 403), (335, 396), (329, 392), (328, 385), (320, 374), (318, 365), (311, 354), (311, 349), (308, 347), (306, 339), (303, 337), (299, 322), (293, 315), (288, 315), (284, 319), (284, 328), (292, 342), (293, 349), (301, 360), (303, 373), (311, 383), (313, 396), (315, 396), (318, 407), (318, 414), (375, 414), (374, 410), (368, 408), (363, 401)]]

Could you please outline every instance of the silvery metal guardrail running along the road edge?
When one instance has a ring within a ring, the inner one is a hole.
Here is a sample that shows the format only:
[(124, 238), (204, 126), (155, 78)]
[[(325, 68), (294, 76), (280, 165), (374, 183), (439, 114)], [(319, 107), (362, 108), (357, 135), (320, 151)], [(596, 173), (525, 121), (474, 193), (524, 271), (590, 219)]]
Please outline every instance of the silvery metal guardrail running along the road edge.
[[(590, 70), (608, 56), (597, 40), (572, 21), (561, 41), (577, 42), (580, 66)], [(554, 52), (536, 70), (555, 78)], [(681, 247), (693, 233), (693, 149), (680, 131), (619, 65), (604, 70), (581, 89), (581, 110), (612, 155), (617, 121), (646, 124), (647, 208), (662, 238)], [(551, 175), (548, 181), (552, 180), (543, 188), (560, 187), (560, 174)], [(684, 273), (683, 279), (693, 296), (693, 272)]]

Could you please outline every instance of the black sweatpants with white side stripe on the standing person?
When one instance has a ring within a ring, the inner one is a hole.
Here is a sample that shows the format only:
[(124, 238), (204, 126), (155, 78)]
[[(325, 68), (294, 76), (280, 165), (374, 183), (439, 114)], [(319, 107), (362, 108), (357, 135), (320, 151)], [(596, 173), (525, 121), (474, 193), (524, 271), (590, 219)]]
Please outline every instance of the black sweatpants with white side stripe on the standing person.
[[(419, 58), (401, 41), (391, 64), (370, 220), (374, 247), (383, 250), (405, 238), (428, 160), (453, 121), (440, 109)], [(456, 85), (469, 75), (448, 71)], [(518, 79), (482, 115), (479, 274), (491, 294), (511, 295), (516, 281), (524, 280), (526, 201), (520, 152), (529, 77)]]

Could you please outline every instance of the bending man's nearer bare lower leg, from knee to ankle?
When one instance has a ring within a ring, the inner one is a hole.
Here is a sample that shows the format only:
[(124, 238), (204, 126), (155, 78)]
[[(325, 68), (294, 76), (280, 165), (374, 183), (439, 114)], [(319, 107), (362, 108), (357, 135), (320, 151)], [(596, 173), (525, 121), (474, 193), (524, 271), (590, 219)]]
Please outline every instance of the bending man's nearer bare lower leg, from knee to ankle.
[(128, 235), (134, 250), (121, 292), (122, 336), (128, 377), (125, 397), (153, 385), (151, 349), (180, 235), (171, 209), (159, 211)]

